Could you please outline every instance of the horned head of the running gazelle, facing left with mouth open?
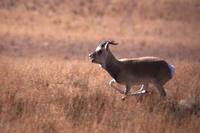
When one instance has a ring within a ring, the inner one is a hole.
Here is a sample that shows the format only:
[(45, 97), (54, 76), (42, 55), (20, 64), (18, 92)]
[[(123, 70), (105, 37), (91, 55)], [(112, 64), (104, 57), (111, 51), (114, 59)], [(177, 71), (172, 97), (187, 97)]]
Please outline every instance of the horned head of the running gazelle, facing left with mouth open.
[(103, 41), (99, 44), (96, 50), (89, 54), (89, 58), (92, 63), (97, 63), (100, 65), (105, 65), (106, 61), (110, 58), (111, 52), (109, 50), (109, 45), (117, 45), (114, 41)]

